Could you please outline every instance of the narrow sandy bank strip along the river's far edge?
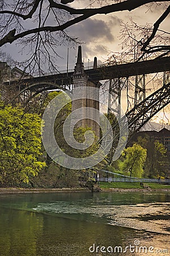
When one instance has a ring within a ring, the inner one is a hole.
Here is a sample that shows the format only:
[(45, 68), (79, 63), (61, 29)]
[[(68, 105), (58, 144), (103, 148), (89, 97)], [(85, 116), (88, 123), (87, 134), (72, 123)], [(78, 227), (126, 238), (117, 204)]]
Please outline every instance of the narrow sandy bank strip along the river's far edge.
[[(169, 191), (169, 188), (143, 189), (143, 188), (109, 188), (101, 192), (148, 192), (148, 191)], [(3, 193), (61, 193), (61, 192), (91, 192), (87, 188), (0, 188), (0, 195)]]

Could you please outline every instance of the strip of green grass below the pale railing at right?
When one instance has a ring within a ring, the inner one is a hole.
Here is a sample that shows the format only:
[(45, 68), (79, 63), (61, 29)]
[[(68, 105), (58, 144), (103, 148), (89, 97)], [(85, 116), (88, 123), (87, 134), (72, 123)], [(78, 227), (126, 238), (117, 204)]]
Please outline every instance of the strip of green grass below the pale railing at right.
[[(149, 188), (153, 189), (159, 189), (159, 188), (167, 188), (170, 189), (170, 185), (163, 185), (158, 183), (147, 183)], [(140, 186), (140, 183), (138, 182), (100, 182), (101, 189), (109, 189), (109, 188), (140, 188), (143, 189), (143, 187)]]

